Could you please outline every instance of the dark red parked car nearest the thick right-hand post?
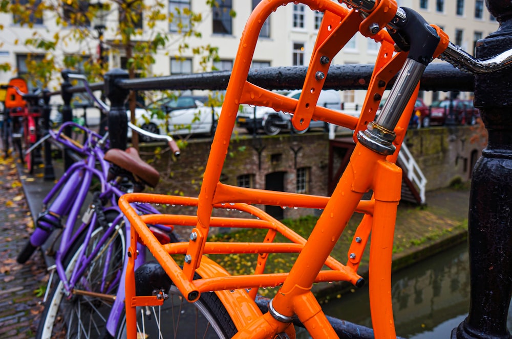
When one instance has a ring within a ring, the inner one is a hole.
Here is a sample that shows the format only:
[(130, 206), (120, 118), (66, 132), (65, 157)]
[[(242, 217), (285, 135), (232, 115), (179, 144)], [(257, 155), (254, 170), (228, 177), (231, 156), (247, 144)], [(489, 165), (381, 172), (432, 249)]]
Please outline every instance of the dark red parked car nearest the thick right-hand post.
[[(452, 116), (450, 117), (450, 107)], [(473, 125), (480, 116), (478, 108), (473, 106), (473, 100), (443, 100), (431, 107), (430, 120), (432, 125), (444, 125), (452, 120), (457, 125)]]

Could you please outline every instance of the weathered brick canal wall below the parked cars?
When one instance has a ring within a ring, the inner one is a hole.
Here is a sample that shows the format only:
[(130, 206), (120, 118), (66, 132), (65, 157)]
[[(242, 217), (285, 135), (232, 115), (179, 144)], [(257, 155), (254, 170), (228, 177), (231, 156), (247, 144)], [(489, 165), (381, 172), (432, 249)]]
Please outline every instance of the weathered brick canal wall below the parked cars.
[[(406, 143), (428, 180), (427, 190), (446, 187), (456, 178), (462, 181), (470, 179), (472, 163), (481, 155), (483, 148), (480, 143), (470, 142), (474, 134), (471, 127), (408, 131)], [(156, 191), (197, 197), (210, 144), (211, 139), (191, 140), (174, 162), (169, 159), (168, 152), (156, 156), (154, 149), (141, 149), (146, 159), (150, 159), (162, 174)], [(268, 174), (283, 172), (284, 190), (295, 192), (296, 168), (308, 167), (308, 193), (326, 196), (328, 163), (329, 140), (324, 133), (280, 134), (256, 139), (239, 136), (231, 140), (221, 182), (237, 185), (237, 177), (248, 174), (253, 175), (254, 188), (264, 189)], [(333, 163), (338, 165), (339, 159), (335, 158)], [(189, 213), (195, 215), (194, 210)], [(314, 213), (311, 209), (283, 210), (283, 216), (291, 218)]]

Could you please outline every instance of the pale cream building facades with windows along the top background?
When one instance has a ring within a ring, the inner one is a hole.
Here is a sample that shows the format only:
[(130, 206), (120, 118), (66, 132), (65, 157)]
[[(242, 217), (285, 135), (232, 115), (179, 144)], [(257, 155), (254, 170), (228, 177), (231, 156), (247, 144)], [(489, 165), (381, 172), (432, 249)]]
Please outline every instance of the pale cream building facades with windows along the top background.
[[(23, 0), (22, 0), (23, 1)], [(27, 1), (27, 0), (24, 0)], [(41, 0), (38, 0), (41, 1)], [(151, 1), (151, 0), (147, 0)], [(169, 0), (165, 11), (176, 13), (176, 8), (189, 7), (196, 13), (201, 13), (202, 23), (198, 29), (202, 33), (200, 39), (192, 38), (190, 45), (204, 45), (219, 47), (221, 61), (215, 63), (220, 70), (230, 69), (236, 56), (238, 43), (245, 22), (252, 8), (259, 3), (259, 0), (218, 0), (219, 7), (211, 9), (206, 5), (205, 0)], [(446, 31), (452, 37), (452, 42), (461, 45), (466, 51), (472, 52), (475, 41), (485, 37), (497, 30), (497, 21), (490, 16), (484, 6), (483, 0), (398, 0), (399, 6), (410, 7), (426, 20), (434, 23)], [(112, 5), (114, 6), (114, 5)], [(229, 15), (230, 11), (236, 12), (235, 17)], [(170, 14), (169, 14), (170, 15)], [(272, 13), (265, 23), (257, 50), (253, 58), (253, 67), (265, 66), (290, 66), (307, 65), (311, 51), (316, 39), (316, 31), (322, 19), (322, 13), (311, 11), (305, 5), (289, 4), (278, 8)], [(125, 64), (125, 58), (120, 53), (115, 53), (115, 36), (113, 27), (117, 26), (119, 20), (117, 9), (112, 8), (106, 20), (104, 41), (110, 45), (108, 56), (109, 66), (121, 67)], [(25, 39), (29, 38), (33, 31), (48, 36), (55, 33), (65, 35), (70, 30), (55, 25), (55, 13), (45, 13), (41, 19), (34, 20), (32, 29), (20, 27), (15, 23), (12, 14), (0, 14), (0, 22), (3, 23), (0, 63), (9, 62), (12, 71), (0, 73), (0, 82), (7, 82), (11, 77), (26, 74), (25, 60), (29, 53), (40, 53), (24, 45)], [(145, 34), (151, 34), (155, 30), (172, 33), (176, 31), (176, 25), (169, 25), (165, 21), (160, 26), (150, 30), (147, 23), (142, 20), (142, 28)], [(174, 35), (176, 37), (176, 35)], [(171, 35), (171, 41), (173, 35)], [(182, 59), (177, 60), (176, 43), (169, 43), (166, 50), (160, 51), (156, 56), (156, 63), (153, 66), (154, 76), (169, 74), (183, 74), (201, 71), (199, 57), (193, 54), (184, 54)], [(98, 40), (91, 38), (80, 44), (70, 42), (67, 45), (60, 45), (54, 52), (54, 60), (62, 64), (61, 60), (66, 55), (97, 55)], [(371, 63), (377, 54), (378, 45), (371, 39), (358, 34), (340, 52), (333, 63)], [(57, 89), (60, 79), (57, 77), (52, 83), (51, 89)], [(430, 94), (426, 95), (426, 101), (430, 102)], [(364, 91), (345, 91), (342, 100), (346, 103), (362, 104)]]

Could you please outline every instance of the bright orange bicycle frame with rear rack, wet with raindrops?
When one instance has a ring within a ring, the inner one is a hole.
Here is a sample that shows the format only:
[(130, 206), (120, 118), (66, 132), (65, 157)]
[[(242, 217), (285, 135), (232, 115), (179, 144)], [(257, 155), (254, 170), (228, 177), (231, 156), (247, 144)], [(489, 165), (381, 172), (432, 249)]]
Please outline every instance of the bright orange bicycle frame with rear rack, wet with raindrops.
[[(381, 42), (382, 46), (360, 117), (355, 118), (328, 108), (317, 107), (316, 102), (323, 81), (315, 78), (316, 71), (321, 69), (327, 74), (330, 60), (357, 31), (369, 35), (368, 18), (364, 19), (356, 11), (348, 10), (331, 0), (303, 0), (302, 3), (312, 10), (324, 12), (304, 82), (304, 94), (296, 100), (246, 81), (260, 29), (270, 13), (283, 5), (283, 1), (278, 0), (260, 2), (249, 17), (241, 38), (199, 197), (143, 193), (121, 197), (120, 207), (132, 224), (129, 270), (126, 274), (126, 317), (129, 338), (134, 338), (136, 331), (135, 307), (161, 303), (156, 297), (135, 296), (133, 268), (137, 255), (136, 244), (139, 240), (152, 252), (188, 301), (194, 302), (201, 293), (215, 291), (238, 329), (235, 338), (273, 338), (276, 333), (283, 331), (293, 338), (293, 326), (286, 320), (294, 316), (305, 325), (314, 338), (335, 338), (336, 333), (314, 298), (311, 287), (314, 282), (342, 280), (359, 285), (362, 278), (357, 274), (357, 269), (370, 233), (370, 307), (375, 336), (396, 336), (391, 305), (391, 259), (396, 209), (400, 200), (401, 169), (395, 162), (413, 112), (419, 86), (416, 87), (406, 111), (403, 112), (394, 130), (396, 152), (388, 156), (382, 155), (357, 143), (350, 163), (331, 197), (242, 188), (219, 181), (240, 104), (267, 106), (292, 113), (292, 123), (297, 129), (307, 128), (308, 122), (313, 118), (353, 129), (357, 133), (366, 129), (368, 123), (375, 118), (386, 84), (406, 60), (407, 53), (394, 52), (393, 40), (388, 33), (380, 31), (372, 35), (372, 38)], [(390, 20), (389, 16), (394, 15), (393, 9), (396, 11), (396, 4), (393, 1), (382, 0), (372, 12), (372, 22), (377, 22), (380, 28), (384, 27)], [(327, 56), (329, 61), (320, 62), (322, 56)], [(369, 190), (374, 192), (372, 199), (361, 201), (364, 193)], [(130, 203), (133, 202), (197, 206), (197, 215), (139, 216), (130, 207)], [(320, 208), (324, 211), (306, 240), (252, 204)], [(212, 216), (214, 209), (222, 208), (238, 209), (251, 214), (252, 217)], [(356, 230), (349, 250), (351, 255), (344, 265), (332, 258), (330, 253), (354, 211), (364, 213), (365, 216)], [(187, 243), (161, 245), (146, 224), (194, 226), (195, 237)], [(263, 228), (268, 231), (261, 242), (210, 243), (207, 241), (210, 227)], [(290, 242), (274, 242), (278, 233)], [(258, 253), (254, 274), (231, 276), (220, 265), (205, 256), (229, 253)], [(298, 257), (288, 273), (264, 273), (266, 260), (271, 253), (298, 253)], [(186, 255), (188, 258), (183, 268), (171, 256), (176, 254)], [(329, 270), (323, 270), (324, 265)], [(193, 280), (195, 272), (200, 273), (202, 278)], [(266, 286), (281, 286), (271, 301), (272, 314), (262, 314), (253, 301), (257, 288)], [(249, 292), (246, 289), (250, 289)], [(229, 290), (233, 292), (230, 293)], [(275, 319), (276, 314), (282, 317), (280, 321)]]

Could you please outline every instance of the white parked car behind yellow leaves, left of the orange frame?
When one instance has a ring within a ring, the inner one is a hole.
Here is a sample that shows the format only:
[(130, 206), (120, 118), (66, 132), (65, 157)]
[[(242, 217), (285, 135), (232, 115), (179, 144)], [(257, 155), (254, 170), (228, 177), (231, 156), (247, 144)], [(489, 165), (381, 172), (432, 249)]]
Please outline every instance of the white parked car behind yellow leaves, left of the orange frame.
[[(145, 110), (136, 110), (136, 125), (156, 134), (213, 135), (221, 107), (206, 106), (207, 102), (207, 96), (182, 95), (175, 99), (164, 98)], [(140, 137), (141, 141), (150, 141), (148, 137)]]

